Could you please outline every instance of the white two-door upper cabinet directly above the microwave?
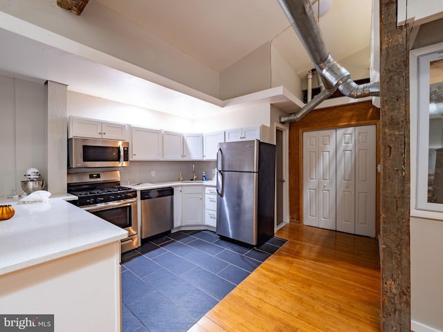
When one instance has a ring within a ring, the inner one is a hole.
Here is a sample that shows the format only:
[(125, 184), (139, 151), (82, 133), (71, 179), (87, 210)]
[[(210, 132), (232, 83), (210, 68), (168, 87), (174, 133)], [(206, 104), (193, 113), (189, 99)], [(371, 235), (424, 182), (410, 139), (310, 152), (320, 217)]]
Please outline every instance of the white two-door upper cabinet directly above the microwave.
[(109, 140), (127, 140), (126, 124), (103, 122), (87, 118), (69, 118), (69, 138), (107, 138)]

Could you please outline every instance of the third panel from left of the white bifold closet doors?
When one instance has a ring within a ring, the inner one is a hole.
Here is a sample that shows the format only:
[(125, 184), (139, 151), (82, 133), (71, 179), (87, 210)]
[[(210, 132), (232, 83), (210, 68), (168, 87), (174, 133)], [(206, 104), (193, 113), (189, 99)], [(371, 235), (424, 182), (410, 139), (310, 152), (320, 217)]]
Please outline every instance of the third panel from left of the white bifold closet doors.
[(337, 230), (355, 231), (355, 128), (337, 129)]

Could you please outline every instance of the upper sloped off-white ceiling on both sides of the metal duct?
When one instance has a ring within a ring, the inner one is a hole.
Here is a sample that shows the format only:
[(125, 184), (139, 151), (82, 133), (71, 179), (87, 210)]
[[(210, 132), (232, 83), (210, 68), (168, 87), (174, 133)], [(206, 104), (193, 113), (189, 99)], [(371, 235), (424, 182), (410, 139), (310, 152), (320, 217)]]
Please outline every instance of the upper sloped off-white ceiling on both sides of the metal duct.
[[(95, 1), (215, 71), (269, 41), (300, 77), (313, 68), (277, 0)], [(339, 62), (370, 45), (371, 10), (372, 0), (332, 0), (320, 18), (325, 42)], [(368, 68), (369, 54), (362, 61)]]

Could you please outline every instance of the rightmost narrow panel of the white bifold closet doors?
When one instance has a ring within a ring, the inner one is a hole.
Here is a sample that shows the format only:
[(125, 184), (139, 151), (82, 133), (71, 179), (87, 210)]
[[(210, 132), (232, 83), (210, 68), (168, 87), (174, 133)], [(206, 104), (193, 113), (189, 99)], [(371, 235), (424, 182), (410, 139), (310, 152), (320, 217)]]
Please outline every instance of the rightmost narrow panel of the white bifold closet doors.
[(375, 237), (376, 129), (355, 127), (355, 234)]

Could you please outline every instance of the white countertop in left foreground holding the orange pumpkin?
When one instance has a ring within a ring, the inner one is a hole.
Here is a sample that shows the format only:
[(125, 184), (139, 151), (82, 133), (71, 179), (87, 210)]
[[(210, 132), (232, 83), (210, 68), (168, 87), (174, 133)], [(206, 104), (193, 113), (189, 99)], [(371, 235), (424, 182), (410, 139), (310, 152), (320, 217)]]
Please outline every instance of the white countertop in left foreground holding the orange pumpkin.
[(0, 275), (127, 237), (126, 230), (64, 199), (29, 204), (0, 199), (0, 205), (8, 204), (15, 215), (0, 221)]

